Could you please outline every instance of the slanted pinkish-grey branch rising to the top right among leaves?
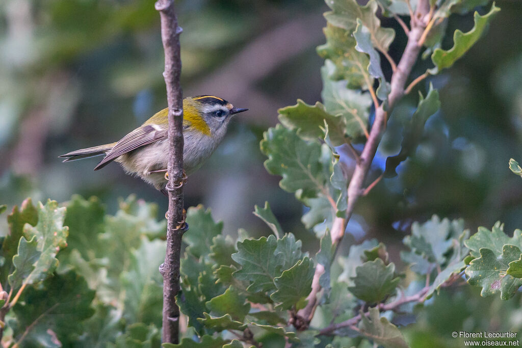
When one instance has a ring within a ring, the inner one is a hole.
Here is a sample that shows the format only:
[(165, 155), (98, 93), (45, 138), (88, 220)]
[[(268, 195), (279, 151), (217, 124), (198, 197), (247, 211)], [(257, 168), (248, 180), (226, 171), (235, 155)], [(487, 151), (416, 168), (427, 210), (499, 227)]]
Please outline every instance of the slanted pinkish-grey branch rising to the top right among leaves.
[[(381, 103), (375, 111), (375, 121), (370, 131), (370, 137), (364, 145), (364, 149), (360, 155), (359, 161), (357, 161), (357, 164), (355, 165), (355, 170), (348, 185), (348, 208), (346, 210), (346, 215), (344, 218), (336, 218), (332, 226), (331, 241), (335, 246), (338, 246), (342, 241), (348, 221), (355, 209), (355, 203), (363, 193), (364, 179), (370, 171), (370, 166), (375, 157), (377, 147), (379, 142), (381, 142), (384, 131), (386, 130), (388, 115), (393, 111), (394, 106), (397, 105), (405, 93), (406, 81), (411, 73), (413, 65), (417, 61), (417, 57), (419, 56), (422, 47), (422, 44), (419, 45), (419, 40), (426, 28), (424, 17), (428, 15), (429, 9), (429, 1), (420, 0), (417, 11), (413, 14), (410, 20), (411, 29), (408, 33), (408, 42), (404, 53), (400, 58), (400, 62), (397, 64), (397, 69), (392, 75), (390, 93), (388, 94), (387, 102)], [(312, 283), (312, 291), (306, 298), (308, 301), (306, 307), (301, 309), (294, 319), (294, 321), (301, 323), (299, 327), (296, 327), (298, 330), (306, 329), (314, 316), (317, 294), (321, 291), (318, 279), (316, 281), (315, 278), (321, 277), (321, 274), (322, 273), (318, 272), (316, 269), (316, 272), (314, 273), (314, 282)]]

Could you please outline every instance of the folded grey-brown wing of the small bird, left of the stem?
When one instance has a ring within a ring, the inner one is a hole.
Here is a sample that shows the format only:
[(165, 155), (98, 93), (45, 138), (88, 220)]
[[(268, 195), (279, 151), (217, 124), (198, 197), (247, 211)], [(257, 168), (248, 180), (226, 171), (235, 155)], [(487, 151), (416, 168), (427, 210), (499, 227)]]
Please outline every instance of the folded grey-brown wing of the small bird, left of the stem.
[(124, 136), (94, 170), (102, 169), (122, 154), (167, 137), (167, 125), (144, 125)]

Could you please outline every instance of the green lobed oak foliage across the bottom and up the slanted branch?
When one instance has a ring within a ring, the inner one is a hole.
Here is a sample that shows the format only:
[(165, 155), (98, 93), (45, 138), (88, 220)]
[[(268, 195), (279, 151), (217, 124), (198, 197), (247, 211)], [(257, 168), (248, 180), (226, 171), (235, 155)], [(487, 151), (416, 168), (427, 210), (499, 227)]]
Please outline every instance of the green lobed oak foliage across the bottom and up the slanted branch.
[[(310, 255), (308, 247), (283, 229), (268, 202), (254, 208), (268, 227), (268, 236), (257, 238), (248, 231), (237, 238), (226, 235), (210, 210), (189, 208), (176, 297), (186, 328), (180, 344), (163, 346), (402, 347), (410, 343), (399, 329), (404, 315), (413, 317), (414, 306), (428, 305), (426, 300), (463, 278), (481, 287), (482, 296), (500, 292), (508, 299), (517, 293), (522, 286), (522, 231), (508, 237), (501, 223), (491, 230), (479, 227), (470, 237), (461, 219), (433, 215), (413, 222), (402, 241), (404, 267), (375, 239), (351, 245), (344, 255), (339, 248), (359, 196), (381, 178), (400, 174), (443, 102), (430, 83), (427, 91), (419, 91), (415, 111), (397, 115), (404, 109), (390, 92), (400, 88), (396, 95), (408, 93), (416, 82), (408, 88), (394, 86), (381, 62), (385, 57), (394, 77), (404, 73), (397, 73), (400, 69), (388, 53), (396, 31), (382, 26), (379, 10), (404, 17), (408, 5), (421, 11), (418, 3), (370, 0), (361, 6), (355, 0), (327, 1), (331, 10), (325, 14), (326, 43), (317, 47), (325, 58), (322, 101), (310, 105), (297, 100), (282, 107), (280, 124), (268, 129), (260, 142), (266, 170), (281, 176), (280, 187), (307, 207), (302, 222), (313, 231), (319, 250)], [(441, 48), (452, 13), (465, 14), (487, 3), (430, 2), (423, 39), (413, 44), (424, 47), (434, 67), (415, 81), (449, 68), (478, 42), (499, 11), (494, 4), (484, 15), (474, 13), (471, 30), (454, 32), (451, 49)], [(410, 21), (411, 30), (415, 25), (416, 20)], [(411, 31), (405, 31), (409, 37)], [(400, 119), (402, 142), (398, 154), (387, 158), (382, 175), (364, 188), (383, 136), (376, 126), (381, 112), (386, 114), (384, 128), (388, 118)], [(373, 151), (365, 151), (372, 145)], [(522, 172), (514, 160), (509, 168), (517, 175)], [(363, 178), (353, 194), (357, 170)], [(0, 206), (0, 213), (4, 210)], [(158, 269), (165, 253), (165, 222), (157, 220), (157, 211), (133, 196), (120, 201), (114, 215), (106, 214), (97, 198), (80, 196), (63, 205), (51, 200), (33, 205), (28, 199), (15, 207), (7, 217), (0, 250), (3, 343), (160, 346)]]

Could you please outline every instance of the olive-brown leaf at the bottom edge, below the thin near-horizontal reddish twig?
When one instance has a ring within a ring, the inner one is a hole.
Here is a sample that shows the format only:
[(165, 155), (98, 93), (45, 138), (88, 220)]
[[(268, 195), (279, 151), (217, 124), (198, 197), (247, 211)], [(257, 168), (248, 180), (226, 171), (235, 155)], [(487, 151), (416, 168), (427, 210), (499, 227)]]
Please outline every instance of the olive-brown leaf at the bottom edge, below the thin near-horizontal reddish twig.
[(399, 329), (390, 323), (388, 319), (381, 317), (377, 308), (370, 308), (369, 314), (369, 317), (366, 317), (361, 312), (362, 325), (360, 332), (362, 335), (385, 348), (407, 348), (409, 346)]

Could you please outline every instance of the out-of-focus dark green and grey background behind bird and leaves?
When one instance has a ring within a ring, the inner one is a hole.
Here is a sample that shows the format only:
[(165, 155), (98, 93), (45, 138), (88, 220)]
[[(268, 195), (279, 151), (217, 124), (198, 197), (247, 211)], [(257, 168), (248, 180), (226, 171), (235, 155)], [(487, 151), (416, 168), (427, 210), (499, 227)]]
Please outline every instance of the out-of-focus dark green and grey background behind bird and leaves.
[[(440, 90), (442, 109), (426, 124), (417, 154), (398, 167), (399, 175), (383, 179), (360, 200), (348, 226), (352, 241), (376, 237), (398, 261), (411, 221), (432, 214), (464, 218), (472, 232), (497, 220), (506, 231), (522, 227), (522, 185), (507, 166), (509, 158), (522, 159), (522, 2), (496, 4), (502, 11), (479, 43), (422, 83), (423, 92), (429, 82)], [(317, 248), (300, 222), (306, 208), (265, 171), (259, 140), (276, 124), (280, 107), (298, 98), (309, 104), (321, 99), (323, 60), (315, 47), (325, 41), (326, 9), (317, 0), (177, 1), (184, 94), (216, 94), (250, 108), (236, 117), (222, 145), (185, 186), (185, 205), (210, 207), (224, 221), (225, 233), (244, 227), (252, 235), (267, 234), (251, 212), (268, 200), (284, 230), (303, 239), (304, 249)], [(382, 22), (398, 33), (390, 49), (398, 61), (406, 37), (393, 19)], [(455, 29), (472, 25), (472, 14), (453, 15), (443, 48), (452, 45)], [(429, 64), (419, 62), (413, 75)], [(159, 15), (150, 0), (0, 2), (0, 203), (12, 207), (28, 196), (65, 201), (77, 193), (99, 196), (114, 213), (118, 197), (135, 193), (166, 210), (160, 193), (123, 175), (116, 164), (93, 172), (96, 159), (57, 158), (120, 139), (165, 107), (162, 69)], [(385, 71), (388, 78), (390, 73)], [(417, 100), (411, 93), (396, 107), (369, 179), (382, 173), (387, 155), (399, 151), (400, 121)], [(345, 241), (342, 248), (349, 245)], [(456, 310), (443, 303), (467, 295), (459, 288), (454, 292), (437, 297), (441, 304), (423, 313), (418, 325), (424, 320), (432, 331), (450, 332), (430, 318)], [(497, 303), (499, 298), (480, 298), (467, 304), (468, 311), (450, 317), (451, 330), (491, 325), (470, 323), (465, 314), (487, 304), (500, 310)], [(521, 317), (513, 313), (514, 329), (522, 327)]]

